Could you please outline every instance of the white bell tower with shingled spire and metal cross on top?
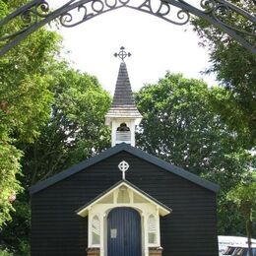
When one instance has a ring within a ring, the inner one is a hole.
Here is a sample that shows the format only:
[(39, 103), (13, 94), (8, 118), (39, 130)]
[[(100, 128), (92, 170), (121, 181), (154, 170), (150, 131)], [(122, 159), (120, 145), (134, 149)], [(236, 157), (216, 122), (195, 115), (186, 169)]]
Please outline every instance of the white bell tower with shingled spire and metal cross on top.
[(120, 48), (114, 56), (121, 58), (112, 105), (105, 115), (105, 124), (111, 127), (111, 145), (127, 143), (135, 147), (135, 127), (142, 115), (135, 105), (124, 59), (131, 54)]

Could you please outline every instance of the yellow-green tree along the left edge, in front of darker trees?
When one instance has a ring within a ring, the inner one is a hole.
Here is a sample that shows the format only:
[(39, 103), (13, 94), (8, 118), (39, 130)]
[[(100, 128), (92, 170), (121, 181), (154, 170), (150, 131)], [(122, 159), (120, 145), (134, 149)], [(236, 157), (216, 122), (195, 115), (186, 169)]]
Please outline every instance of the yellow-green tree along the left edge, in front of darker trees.
[[(0, 19), (25, 2), (0, 1)], [(22, 191), (17, 177), (23, 153), (16, 144), (32, 142), (50, 113), (48, 72), (59, 41), (55, 32), (41, 29), (0, 59), (0, 228), (11, 219), (10, 198)]]

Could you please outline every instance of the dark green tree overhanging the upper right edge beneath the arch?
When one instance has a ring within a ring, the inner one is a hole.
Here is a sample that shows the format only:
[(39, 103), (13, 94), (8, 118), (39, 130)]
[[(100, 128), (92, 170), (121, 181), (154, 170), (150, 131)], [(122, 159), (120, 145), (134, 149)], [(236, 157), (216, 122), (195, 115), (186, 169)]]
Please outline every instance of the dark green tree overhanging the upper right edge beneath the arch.
[[(235, 5), (255, 13), (255, 1), (231, 0)], [(255, 34), (256, 28), (241, 16), (233, 15), (231, 19), (227, 13), (219, 17), (224, 23), (240, 30), (247, 30)], [(217, 27), (209, 25), (202, 19), (194, 19), (194, 30), (198, 32), (204, 47), (210, 52), (212, 66), (206, 73), (215, 73), (220, 84), (225, 89), (213, 98), (213, 105), (217, 113), (231, 129), (234, 129), (244, 140), (244, 147), (250, 149), (256, 145), (256, 56), (243, 48), (237, 42), (224, 34)], [(229, 24), (230, 25), (230, 24)], [(243, 35), (247, 36), (247, 35)], [(248, 36), (247, 36), (248, 37)], [(249, 37), (248, 37), (249, 38)], [(255, 45), (255, 36), (250, 37)]]

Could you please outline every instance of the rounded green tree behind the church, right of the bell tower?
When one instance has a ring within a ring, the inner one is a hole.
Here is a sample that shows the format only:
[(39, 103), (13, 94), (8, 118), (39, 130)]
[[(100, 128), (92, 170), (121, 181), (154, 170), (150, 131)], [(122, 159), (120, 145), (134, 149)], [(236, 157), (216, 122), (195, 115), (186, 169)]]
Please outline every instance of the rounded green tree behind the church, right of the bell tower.
[(137, 144), (160, 159), (220, 184), (220, 233), (244, 232), (237, 211), (223, 214), (224, 198), (239, 183), (252, 156), (212, 108), (213, 90), (202, 81), (170, 73), (158, 84), (146, 85), (136, 94), (144, 116)]

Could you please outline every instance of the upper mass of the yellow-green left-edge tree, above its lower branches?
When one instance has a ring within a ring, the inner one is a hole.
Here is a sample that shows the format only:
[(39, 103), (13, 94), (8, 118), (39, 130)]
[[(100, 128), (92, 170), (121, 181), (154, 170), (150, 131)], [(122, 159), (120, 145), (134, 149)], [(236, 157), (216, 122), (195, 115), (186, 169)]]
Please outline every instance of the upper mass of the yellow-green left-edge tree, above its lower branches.
[[(2, 17), (26, 2), (0, 1), (7, 10)], [(47, 120), (51, 100), (48, 73), (58, 54), (59, 41), (56, 32), (41, 29), (0, 59), (0, 104), (8, 113), (5, 132), (11, 137), (31, 142)]]

